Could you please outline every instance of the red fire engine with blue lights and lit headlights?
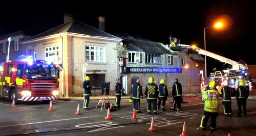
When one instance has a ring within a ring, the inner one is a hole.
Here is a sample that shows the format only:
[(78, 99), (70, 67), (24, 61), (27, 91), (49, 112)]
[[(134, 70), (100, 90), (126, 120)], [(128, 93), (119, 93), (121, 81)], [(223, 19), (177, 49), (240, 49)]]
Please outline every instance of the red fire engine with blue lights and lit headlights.
[(57, 99), (59, 69), (46, 61), (4, 62), (0, 70), (1, 97), (15, 103)]

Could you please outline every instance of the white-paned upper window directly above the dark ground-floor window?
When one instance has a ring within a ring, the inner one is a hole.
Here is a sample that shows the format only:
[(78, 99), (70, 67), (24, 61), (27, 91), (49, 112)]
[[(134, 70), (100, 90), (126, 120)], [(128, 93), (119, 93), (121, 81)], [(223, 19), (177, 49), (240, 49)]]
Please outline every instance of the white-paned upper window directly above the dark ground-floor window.
[(86, 61), (104, 62), (104, 47), (86, 46)]

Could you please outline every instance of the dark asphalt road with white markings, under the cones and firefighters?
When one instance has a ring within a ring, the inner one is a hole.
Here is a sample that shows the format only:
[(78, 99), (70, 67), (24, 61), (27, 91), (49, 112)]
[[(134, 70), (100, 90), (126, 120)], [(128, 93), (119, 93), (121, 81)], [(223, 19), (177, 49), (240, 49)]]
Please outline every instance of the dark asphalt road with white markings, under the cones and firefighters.
[[(109, 101), (105, 99), (104, 102)], [(114, 100), (110, 100), (114, 103)], [(217, 118), (217, 131), (210, 133), (209, 121), (206, 131), (198, 131), (203, 115), (203, 102), (200, 97), (184, 98), (181, 111), (158, 111), (158, 115), (146, 114), (146, 100), (141, 100), (142, 113), (133, 117), (132, 103), (127, 97), (121, 100), (122, 109), (110, 112), (111, 120), (105, 120), (107, 112), (101, 110), (102, 102), (91, 100), (90, 110), (82, 109), (82, 100), (61, 101), (52, 103), (54, 111), (48, 111), (49, 104), (25, 103), (11, 108), (11, 103), (0, 100), (0, 135), (180, 135), (186, 122), (189, 135), (254, 135), (256, 128), (256, 101), (247, 101), (247, 118), (234, 117), (238, 108), (232, 100), (233, 117), (223, 116), (223, 106)], [(80, 104), (81, 115), (75, 115)], [(172, 104), (168, 97), (166, 107)], [(98, 105), (98, 108), (95, 108)], [(152, 117), (157, 131), (148, 131)]]

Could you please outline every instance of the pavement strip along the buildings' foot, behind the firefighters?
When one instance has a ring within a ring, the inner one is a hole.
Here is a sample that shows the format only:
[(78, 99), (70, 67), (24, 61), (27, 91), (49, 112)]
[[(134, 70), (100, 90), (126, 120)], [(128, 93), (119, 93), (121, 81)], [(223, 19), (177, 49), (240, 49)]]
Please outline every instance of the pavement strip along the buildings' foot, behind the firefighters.
[[(202, 97), (202, 94), (184, 94), (182, 95), (183, 98), (189, 98), (189, 97)], [(122, 96), (121, 97), (121, 100), (129, 100), (130, 97), (132, 96)], [(173, 97), (170, 97), (170, 98), (173, 98)], [(80, 101), (80, 100), (83, 100), (84, 98), (83, 97), (59, 97), (58, 100), (62, 100), (62, 101)], [(90, 100), (101, 100), (101, 99), (104, 99), (104, 100), (115, 100), (116, 99), (116, 96), (90, 96)], [(232, 100), (236, 99), (235, 97), (232, 97), (231, 98)], [(256, 95), (249, 95), (248, 99), (247, 100), (256, 100)]]

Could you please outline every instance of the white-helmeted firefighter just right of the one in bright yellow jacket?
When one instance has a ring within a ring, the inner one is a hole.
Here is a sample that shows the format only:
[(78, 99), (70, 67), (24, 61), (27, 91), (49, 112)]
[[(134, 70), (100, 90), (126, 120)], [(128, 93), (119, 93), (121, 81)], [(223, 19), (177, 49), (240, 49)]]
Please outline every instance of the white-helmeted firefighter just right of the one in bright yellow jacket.
[(231, 108), (231, 87), (228, 86), (228, 81), (223, 82), (224, 87), (221, 88), (222, 94), (222, 103), (224, 109), (224, 115), (226, 117), (232, 117), (232, 108)]

